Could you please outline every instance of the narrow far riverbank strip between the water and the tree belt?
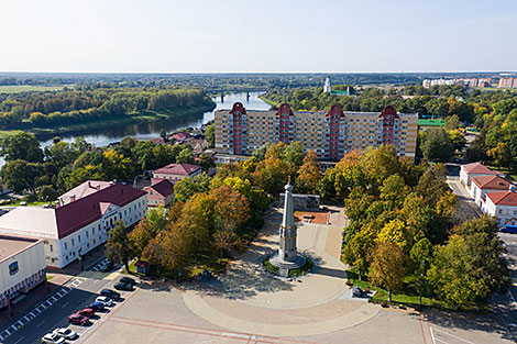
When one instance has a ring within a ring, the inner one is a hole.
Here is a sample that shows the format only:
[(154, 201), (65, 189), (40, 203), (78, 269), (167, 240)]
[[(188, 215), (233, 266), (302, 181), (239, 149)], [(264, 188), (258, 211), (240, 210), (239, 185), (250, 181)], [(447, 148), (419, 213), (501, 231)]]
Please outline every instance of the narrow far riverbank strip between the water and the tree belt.
[[(178, 109), (170, 112), (152, 112), (146, 111), (143, 113), (135, 113), (129, 116), (112, 118), (112, 119), (101, 119), (98, 121), (79, 123), (79, 124), (67, 124), (53, 127), (29, 127), (25, 131), (31, 132), (36, 135), (40, 140), (52, 138), (53, 136), (64, 135), (64, 134), (74, 134), (74, 133), (87, 133), (88, 131), (107, 129), (118, 125), (128, 125), (128, 124), (141, 124), (141, 123), (153, 123), (163, 120), (169, 120), (174, 118), (183, 118), (197, 113), (202, 113), (207, 111), (212, 111), (216, 109), (216, 103), (204, 104), (190, 109)], [(15, 135), (16, 133), (22, 132), (23, 130), (13, 129), (0, 131), (0, 138), (8, 137), (10, 135)]]

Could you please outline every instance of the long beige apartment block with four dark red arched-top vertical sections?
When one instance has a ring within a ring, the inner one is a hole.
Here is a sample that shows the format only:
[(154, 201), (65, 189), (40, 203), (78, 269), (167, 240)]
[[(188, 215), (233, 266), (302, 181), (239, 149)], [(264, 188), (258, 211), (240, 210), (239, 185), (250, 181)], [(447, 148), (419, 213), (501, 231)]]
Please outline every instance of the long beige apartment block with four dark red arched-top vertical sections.
[(216, 151), (251, 155), (266, 143), (300, 142), (320, 160), (336, 162), (354, 149), (392, 144), (400, 156), (415, 157), (418, 115), (397, 113), (387, 106), (380, 112), (343, 112), (339, 104), (324, 111), (293, 111), (287, 103), (278, 110), (246, 110), (240, 102), (218, 110)]

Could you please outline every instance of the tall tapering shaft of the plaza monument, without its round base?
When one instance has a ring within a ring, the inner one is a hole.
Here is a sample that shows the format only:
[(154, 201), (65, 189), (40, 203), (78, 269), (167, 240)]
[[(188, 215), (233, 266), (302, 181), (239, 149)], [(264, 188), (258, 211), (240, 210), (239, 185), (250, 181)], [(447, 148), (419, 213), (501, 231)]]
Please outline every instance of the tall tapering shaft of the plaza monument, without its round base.
[(296, 252), (296, 225), (293, 207), (293, 186), (285, 186), (284, 218), (279, 229), (278, 257), (285, 262), (295, 262)]

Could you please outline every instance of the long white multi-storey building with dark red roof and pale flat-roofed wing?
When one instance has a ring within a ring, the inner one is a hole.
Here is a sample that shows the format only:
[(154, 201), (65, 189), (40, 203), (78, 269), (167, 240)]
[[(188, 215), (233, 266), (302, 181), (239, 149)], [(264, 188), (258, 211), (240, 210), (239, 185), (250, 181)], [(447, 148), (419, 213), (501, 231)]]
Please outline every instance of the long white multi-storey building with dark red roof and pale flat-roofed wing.
[(145, 217), (146, 196), (112, 182), (55, 209), (19, 207), (0, 217), (0, 233), (42, 238), (46, 265), (62, 268), (107, 242), (118, 221), (130, 226)]

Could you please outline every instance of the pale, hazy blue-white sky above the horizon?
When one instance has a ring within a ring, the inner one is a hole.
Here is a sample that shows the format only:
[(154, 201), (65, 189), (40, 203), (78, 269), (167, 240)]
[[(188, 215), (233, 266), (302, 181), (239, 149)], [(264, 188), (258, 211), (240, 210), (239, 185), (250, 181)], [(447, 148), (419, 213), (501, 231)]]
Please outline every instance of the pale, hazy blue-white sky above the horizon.
[(2, 0), (0, 71), (515, 71), (516, 0)]

